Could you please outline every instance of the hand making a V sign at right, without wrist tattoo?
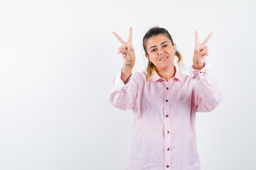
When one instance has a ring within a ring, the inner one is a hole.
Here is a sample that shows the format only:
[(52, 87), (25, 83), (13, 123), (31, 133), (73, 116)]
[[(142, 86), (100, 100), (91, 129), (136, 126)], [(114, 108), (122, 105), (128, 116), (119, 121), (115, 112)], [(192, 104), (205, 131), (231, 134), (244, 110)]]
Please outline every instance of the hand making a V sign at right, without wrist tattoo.
[(209, 49), (205, 44), (210, 40), (213, 33), (210, 33), (207, 38), (200, 44), (198, 33), (195, 31), (195, 49), (194, 49), (194, 56), (193, 56), (193, 64), (194, 67), (197, 69), (201, 69), (204, 67), (205, 57), (208, 56)]

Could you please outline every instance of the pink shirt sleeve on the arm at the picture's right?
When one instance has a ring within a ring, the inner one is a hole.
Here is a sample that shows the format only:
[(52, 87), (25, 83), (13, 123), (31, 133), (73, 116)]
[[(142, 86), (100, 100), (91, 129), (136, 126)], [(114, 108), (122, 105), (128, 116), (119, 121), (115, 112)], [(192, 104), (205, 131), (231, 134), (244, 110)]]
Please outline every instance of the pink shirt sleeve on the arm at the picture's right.
[(208, 59), (205, 60), (201, 70), (196, 70), (193, 64), (190, 67), (190, 73), (193, 76), (192, 98), (195, 112), (211, 112), (223, 100), (220, 86), (217, 80), (209, 74), (209, 68)]

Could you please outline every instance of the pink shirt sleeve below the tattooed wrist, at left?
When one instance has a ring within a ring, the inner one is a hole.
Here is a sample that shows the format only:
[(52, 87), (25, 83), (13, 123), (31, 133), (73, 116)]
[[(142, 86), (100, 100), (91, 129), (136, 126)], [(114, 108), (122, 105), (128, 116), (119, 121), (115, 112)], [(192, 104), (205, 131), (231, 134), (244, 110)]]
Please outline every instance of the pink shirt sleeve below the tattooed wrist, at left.
[(131, 74), (126, 84), (121, 80), (121, 71), (112, 80), (112, 87), (107, 95), (107, 100), (112, 106), (121, 110), (132, 109), (135, 106), (138, 78), (137, 75)]

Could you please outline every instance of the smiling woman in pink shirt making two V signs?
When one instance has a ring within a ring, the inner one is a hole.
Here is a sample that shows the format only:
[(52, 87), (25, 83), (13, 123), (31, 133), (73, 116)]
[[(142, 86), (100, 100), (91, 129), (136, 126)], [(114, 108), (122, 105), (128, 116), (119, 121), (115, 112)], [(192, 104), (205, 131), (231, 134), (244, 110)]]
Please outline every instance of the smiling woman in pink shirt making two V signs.
[(143, 47), (148, 67), (132, 74), (135, 52), (132, 28), (119, 52), (124, 65), (112, 80), (107, 99), (122, 110), (132, 109), (132, 140), (124, 170), (200, 170), (196, 148), (195, 113), (211, 112), (223, 100), (220, 88), (209, 73), (205, 60), (209, 49), (200, 44), (195, 31), (195, 50), (191, 74), (177, 71), (173, 61), (182, 61), (176, 44), (164, 28), (148, 30)]

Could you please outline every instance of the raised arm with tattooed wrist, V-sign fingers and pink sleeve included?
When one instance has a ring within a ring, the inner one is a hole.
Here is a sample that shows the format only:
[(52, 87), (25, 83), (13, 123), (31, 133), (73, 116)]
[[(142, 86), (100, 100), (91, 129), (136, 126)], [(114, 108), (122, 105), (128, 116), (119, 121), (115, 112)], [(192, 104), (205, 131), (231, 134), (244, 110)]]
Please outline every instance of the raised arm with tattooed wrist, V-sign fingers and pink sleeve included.
[(129, 30), (128, 41), (124, 40), (113, 32), (115, 37), (122, 43), (119, 48), (119, 54), (124, 59), (124, 65), (117, 76), (112, 80), (112, 88), (108, 92), (107, 100), (112, 106), (122, 110), (132, 109), (135, 106), (138, 75), (132, 74), (132, 68), (135, 64), (135, 52), (132, 47), (132, 28)]

